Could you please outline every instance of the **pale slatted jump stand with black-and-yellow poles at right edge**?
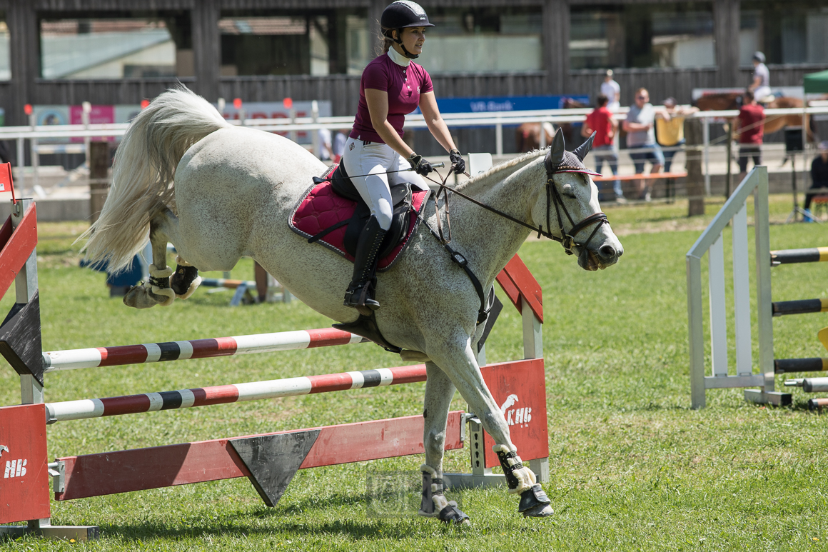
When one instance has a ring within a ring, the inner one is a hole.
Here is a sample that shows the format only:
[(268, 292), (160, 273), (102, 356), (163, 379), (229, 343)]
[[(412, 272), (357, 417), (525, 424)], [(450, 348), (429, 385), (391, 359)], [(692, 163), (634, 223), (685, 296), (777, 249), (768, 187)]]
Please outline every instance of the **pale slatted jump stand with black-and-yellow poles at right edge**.
[[(759, 372), (753, 373), (750, 337), (750, 283), (748, 276), (748, 196), (754, 194), (756, 231), (756, 289), (759, 331)], [(727, 358), (724, 303), (724, 248), (722, 230), (733, 220), (734, 312), (736, 322), (736, 374)], [(755, 167), (687, 253), (687, 308), (690, 318), (690, 365), (693, 408), (705, 406), (705, 390), (716, 387), (759, 387), (746, 390), (745, 399), (758, 403), (790, 404), (791, 395), (773, 391), (774, 374), (828, 370), (828, 358), (773, 358), (773, 317), (828, 311), (828, 299), (771, 300), (771, 268), (782, 264), (828, 261), (828, 247), (770, 250), (768, 223), (768, 170)], [(702, 332), (701, 257), (710, 251), (710, 360), (713, 374), (705, 375), (705, 340)], [(820, 332), (822, 334), (822, 332)], [(820, 335), (822, 339), (822, 335)], [(828, 346), (828, 337), (824, 340)], [(823, 381), (824, 380), (824, 381)], [(806, 392), (828, 390), (828, 378), (789, 380), (785, 385)], [(828, 405), (811, 399), (811, 407)]]

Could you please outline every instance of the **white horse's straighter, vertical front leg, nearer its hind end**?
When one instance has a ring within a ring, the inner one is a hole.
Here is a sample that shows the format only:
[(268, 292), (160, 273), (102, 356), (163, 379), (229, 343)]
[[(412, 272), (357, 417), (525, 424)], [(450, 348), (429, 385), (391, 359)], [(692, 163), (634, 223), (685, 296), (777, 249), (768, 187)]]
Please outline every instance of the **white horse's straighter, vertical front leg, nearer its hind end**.
[(422, 501), (419, 513), (421, 516), (437, 517), (445, 523), (464, 525), (469, 523), (469, 516), (457, 508), (455, 501), (447, 501), (443, 496), (445, 424), (454, 395), (455, 385), (445, 372), (434, 362), (426, 362), (426, 400), (422, 411), (426, 463), (420, 467)]

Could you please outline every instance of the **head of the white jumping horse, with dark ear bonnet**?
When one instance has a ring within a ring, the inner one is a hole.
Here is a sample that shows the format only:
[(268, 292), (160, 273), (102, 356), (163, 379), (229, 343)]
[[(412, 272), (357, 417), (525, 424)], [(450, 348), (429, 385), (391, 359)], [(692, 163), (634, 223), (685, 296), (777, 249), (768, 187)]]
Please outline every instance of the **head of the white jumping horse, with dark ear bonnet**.
[(584, 166), (595, 133), (573, 152), (566, 151), (563, 133), (552, 139), (546, 154), (546, 191), (538, 196), (532, 219), (568, 254), (578, 256), (585, 270), (605, 269), (618, 262), (623, 246), (609, 227), (598, 203), (598, 188)]

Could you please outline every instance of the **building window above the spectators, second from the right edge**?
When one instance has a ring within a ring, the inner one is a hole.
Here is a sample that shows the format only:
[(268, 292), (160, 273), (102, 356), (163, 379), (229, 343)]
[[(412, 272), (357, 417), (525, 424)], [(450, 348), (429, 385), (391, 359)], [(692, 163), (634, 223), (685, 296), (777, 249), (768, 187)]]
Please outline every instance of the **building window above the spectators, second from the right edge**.
[(570, 67), (715, 65), (710, 2), (572, 7)]

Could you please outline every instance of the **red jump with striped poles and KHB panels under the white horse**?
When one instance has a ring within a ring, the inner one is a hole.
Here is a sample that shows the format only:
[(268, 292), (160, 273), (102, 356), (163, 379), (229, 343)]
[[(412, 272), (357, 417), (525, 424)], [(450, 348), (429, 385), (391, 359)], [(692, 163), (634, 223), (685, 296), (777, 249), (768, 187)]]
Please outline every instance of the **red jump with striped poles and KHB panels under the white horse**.
[[(51, 525), (49, 478), (55, 501), (195, 482), (248, 477), (267, 506), (275, 506), (296, 470), (423, 453), (420, 415), (331, 425), (198, 443), (180, 443), (47, 460), (46, 425), (73, 419), (193, 408), (243, 400), (329, 393), (426, 380), (424, 365), (310, 375), (284, 380), (161, 391), (103, 399), (45, 403), (44, 375), (97, 366), (182, 361), (215, 356), (286, 351), (362, 343), (355, 334), (333, 328), (257, 336), (167, 341), (43, 352), (36, 267), (36, 207), (17, 201), (0, 229), (0, 296), (15, 284), (16, 303), (0, 325), (0, 354), (20, 375), (22, 404), (0, 407), (0, 534), (33, 532), (57, 538), (96, 538), (98, 527)], [(504, 413), (524, 462), (542, 482), (549, 478), (546, 384), (543, 370), (541, 288), (517, 255), (498, 275), (498, 283), (522, 314), (524, 360), (486, 365), (484, 380)], [(493, 309), (493, 312), (498, 309)], [(489, 317), (484, 337), (495, 316)], [(519, 407), (519, 408), (517, 408)], [(466, 431), (465, 424), (469, 424)], [(492, 453), (493, 440), (474, 414), (450, 412), (445, 449), (470, 440), (471, 473), (445, 474), (449, 487), (503, 484)]]

